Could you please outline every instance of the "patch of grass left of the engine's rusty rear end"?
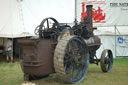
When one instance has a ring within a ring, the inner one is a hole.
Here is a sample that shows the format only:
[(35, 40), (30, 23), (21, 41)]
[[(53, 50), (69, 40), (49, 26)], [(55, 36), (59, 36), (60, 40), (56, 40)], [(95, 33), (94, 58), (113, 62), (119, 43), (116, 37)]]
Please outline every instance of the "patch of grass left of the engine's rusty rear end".
[(0, 62), (0, 85), (21, 85), (24, 82), (19, 63)]

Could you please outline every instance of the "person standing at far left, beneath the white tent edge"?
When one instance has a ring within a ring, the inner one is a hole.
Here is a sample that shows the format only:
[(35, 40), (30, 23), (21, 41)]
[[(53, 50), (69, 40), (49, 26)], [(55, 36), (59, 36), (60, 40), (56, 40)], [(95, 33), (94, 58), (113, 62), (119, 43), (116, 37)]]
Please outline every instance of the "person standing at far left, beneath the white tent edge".
[(7, 39), (4, 44), (4, 47), (5, 47), (5, 55), (6, 55), (7, 62), (10, 62), (11, 60), (11, 62), (14, 63), (13, 55), (12, 55), (12, 52), (13, 52), (12, 39)]

